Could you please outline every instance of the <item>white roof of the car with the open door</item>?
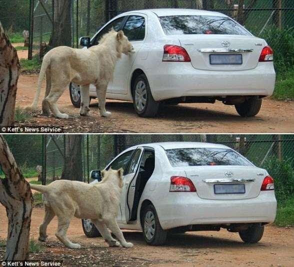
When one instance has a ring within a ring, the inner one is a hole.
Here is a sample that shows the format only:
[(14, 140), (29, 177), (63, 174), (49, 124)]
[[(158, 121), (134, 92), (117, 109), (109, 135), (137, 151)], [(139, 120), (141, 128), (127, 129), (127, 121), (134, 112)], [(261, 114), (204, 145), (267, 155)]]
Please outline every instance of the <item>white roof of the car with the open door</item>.
[[(148, 144), (140, 144), (136, 146), (132, 146), (131, 148), (135, 148), (138, 146), (148, 146), (156, 148), (158, 146), (163, 149), (174, 149), (174, 148), (229, 148), (220, 144), (211, 144), (211, 143), (203, 143), (203, 142), (160, 142), (160, 143), (148, 143)], [(129, 148), (129, 149), (131, 149)]]

